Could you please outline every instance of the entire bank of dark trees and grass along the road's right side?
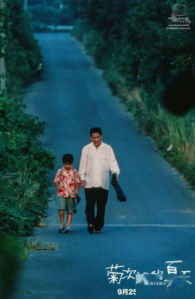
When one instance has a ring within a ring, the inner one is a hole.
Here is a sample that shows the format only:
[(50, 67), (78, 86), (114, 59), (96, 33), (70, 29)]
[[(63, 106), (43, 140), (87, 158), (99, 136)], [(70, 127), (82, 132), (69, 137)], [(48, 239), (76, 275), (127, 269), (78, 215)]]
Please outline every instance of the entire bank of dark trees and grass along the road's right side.
[(167, 29), (170, 0), (69, 0), (69, 4), (77, 18), (72, 35), (104, 69), (113, 93), (156, 140), (164, 158), (195, 186), (194, 110), (177, 118), (159, 104), (165, 85), (194, 64), (193, 1), (182, 1), (188, 7), (191, 30)]

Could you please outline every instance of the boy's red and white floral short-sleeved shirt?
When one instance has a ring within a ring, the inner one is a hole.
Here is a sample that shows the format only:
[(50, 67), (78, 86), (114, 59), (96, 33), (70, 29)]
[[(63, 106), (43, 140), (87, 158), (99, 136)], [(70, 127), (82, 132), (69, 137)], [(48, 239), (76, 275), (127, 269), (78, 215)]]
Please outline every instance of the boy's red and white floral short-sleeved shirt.
[(74, 193), (76, 187), (75, 183), (80, 183), (78, 171), (76, 169), (74, 170), (74, 168), (65, 170), (65, 168), (62, 167), (62, 172), (60, 174), (60, 169), (58, 169), (54, 179), (54, 183), (59, 183), (61, 187), (60, 190), (57, 190), (57, 196), (68, 198), (70, 195), (70, 197), (76, 197), (76, 194)]

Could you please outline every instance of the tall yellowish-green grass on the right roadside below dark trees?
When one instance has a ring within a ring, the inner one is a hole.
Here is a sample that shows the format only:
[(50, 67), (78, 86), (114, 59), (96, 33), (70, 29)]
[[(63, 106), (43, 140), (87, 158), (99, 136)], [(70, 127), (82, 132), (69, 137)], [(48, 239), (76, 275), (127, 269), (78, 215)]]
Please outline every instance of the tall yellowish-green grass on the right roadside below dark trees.
[[(153, 103), (159, 102), (159, 95), (156, 92), (150, 96)], [(178, 117), (167, 112), (160, 104), (151, 108), (149, 102), (147, 93), (136, 90), (134, 95), (131, 93), (126, 97), (125, 107), (132, 113), (141, 130), (156, 141), (160, 154), (194, 189), (195, 111), (191, 110), (185, 116)]]

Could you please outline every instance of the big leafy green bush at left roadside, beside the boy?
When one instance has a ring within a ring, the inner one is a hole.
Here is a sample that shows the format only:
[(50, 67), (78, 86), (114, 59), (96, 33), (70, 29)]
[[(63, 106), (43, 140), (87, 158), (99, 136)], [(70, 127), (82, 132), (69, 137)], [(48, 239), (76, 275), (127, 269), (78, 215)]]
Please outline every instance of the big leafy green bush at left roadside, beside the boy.
[(25, 114), (22, 100), (2, 97), (0, 103), (0, 226), (3, 231), (30, 233), (47, 205), (48, 172), (55, 156), (38, 137), (45, 122)]

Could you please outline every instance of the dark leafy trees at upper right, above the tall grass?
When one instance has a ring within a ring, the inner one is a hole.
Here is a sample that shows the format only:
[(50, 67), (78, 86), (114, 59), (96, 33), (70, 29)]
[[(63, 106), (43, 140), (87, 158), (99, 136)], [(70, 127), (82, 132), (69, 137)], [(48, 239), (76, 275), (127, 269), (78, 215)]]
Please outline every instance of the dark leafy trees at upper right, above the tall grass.
[[(190, 15), (194, 15), (192, 1), (184, 2)], [(157, 77), (165, 84), (194, 63), (193, 30), (166, 29), (171, 6), (171, 0), (155, 4), (152, 0), (79, 1), (73, 8), (81, 20), (76, 21), (72, 34), (85, 44), (89, 53), (96, 48), (92, 55), (97, 67), (105, 65), (105, 56), (114, 58), (127, 88), (142, 84), (152, 91)]]

